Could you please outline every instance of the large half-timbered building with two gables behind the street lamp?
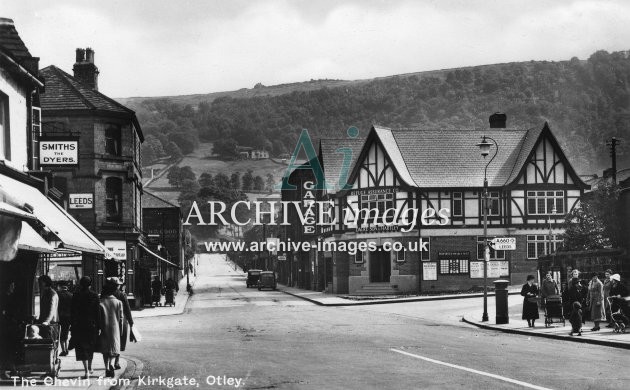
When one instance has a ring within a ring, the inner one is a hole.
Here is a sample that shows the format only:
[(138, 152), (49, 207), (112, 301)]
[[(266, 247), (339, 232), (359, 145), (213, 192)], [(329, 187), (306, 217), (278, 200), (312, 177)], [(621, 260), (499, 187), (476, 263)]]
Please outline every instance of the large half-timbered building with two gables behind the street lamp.
[[(323, 267), (319, 272), (325, 281), (315, 289), (373, 295), (480, 288), (484, 167), (492, 157), (482, 158), (476, 146), (483, 136), (498, 144), (487, 168), (488, 237), (516, 239), (516, 250), (490, 251), (488, 275), (516, 284), (536, 274), (538, 256), (550, 246), (555, 250), (565, 214), (588, 186), (547, 123), (529, 130), (506, 129), (498, 118), (493, 115), (485, 130), (374, 126), (358, 150), (349, 148), (358, 155), (346, 185), (339, 185), (343, 159), (338, 141), (327, 146), (323, 140), (320, 164), (327, 185), (335, 185), (318, 199), (334, 202), (335, 223), (321, 228), (317, 239), (367, 242), (376, 250), (319, 251), (311, 268)], [(362, 219), (362, 210), (394, 208), (400, 212), (389, 214), (385, 223)], [(407, 213), (413, 210), (417, 215)], [(406, 249), (385, 250), (394, 242)]]

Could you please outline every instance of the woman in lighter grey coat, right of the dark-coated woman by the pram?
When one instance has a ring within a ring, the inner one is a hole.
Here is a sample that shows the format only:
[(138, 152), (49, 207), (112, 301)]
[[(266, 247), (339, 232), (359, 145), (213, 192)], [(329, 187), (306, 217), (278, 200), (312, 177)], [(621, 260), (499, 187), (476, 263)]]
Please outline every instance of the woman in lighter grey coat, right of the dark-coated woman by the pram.
[(105, 364), (105, 376), (114, 377), (114, 366), (112, 362), (120, 354), (120, 329), (122, 327), (122, 302), (115, 296), (114, 292), (118, 285), (106, 282), (101, 293), (100, 304), (100, 347)]

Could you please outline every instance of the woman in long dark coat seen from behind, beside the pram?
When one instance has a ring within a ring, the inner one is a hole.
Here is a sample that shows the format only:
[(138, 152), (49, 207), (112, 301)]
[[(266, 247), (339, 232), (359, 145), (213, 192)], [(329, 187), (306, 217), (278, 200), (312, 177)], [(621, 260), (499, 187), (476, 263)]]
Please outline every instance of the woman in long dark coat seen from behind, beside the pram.
[(76, 360), (83, 363), (83, 379), (94, 374), (92, 359), (98, 341), (99, 301), (98, 294), (92, 291), (91, 285), (92, 279), (89, 276), (82, 277), (79, 280), (79, 289), (72, 296), (70, 344), (75, 348)]

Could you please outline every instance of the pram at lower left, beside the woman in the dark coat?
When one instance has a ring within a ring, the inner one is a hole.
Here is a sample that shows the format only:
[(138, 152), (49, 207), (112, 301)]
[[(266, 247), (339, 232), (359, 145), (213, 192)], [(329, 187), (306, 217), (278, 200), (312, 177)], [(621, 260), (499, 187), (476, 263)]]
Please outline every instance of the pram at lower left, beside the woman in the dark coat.
[(59, 374), (59, 324), (40, 325), (40, 339), (29, 339), (27, 324), (24, 326), (24, 338), (21, 341), (22, 353), (17, 370), (20, 376), (42, 373), (56, 378)]

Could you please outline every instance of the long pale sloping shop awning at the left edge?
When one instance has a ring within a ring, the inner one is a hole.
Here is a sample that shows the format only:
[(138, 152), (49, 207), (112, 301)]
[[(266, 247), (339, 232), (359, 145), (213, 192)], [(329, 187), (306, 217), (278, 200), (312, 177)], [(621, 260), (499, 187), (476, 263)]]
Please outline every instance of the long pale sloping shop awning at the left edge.
[(36, 188), (0, 175), (2, 189), (33, 207), (33, 215), (63, 242), (64, 248), (105, 255), (105, 247), (61, 206)]

